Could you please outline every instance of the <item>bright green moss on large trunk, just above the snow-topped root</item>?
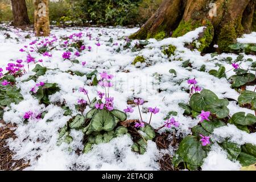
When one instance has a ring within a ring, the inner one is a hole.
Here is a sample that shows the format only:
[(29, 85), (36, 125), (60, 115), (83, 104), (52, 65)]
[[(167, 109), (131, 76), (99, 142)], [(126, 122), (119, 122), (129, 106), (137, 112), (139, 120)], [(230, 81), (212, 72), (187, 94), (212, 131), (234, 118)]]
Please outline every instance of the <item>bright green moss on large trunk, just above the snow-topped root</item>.
[(180, 22), (179, 26), (174, 31), (174, 33), (172, 34), (172, 37), (177, 38), (179, 36), (183, 36), (183, 35), (187, 34), (188, 32), (195, 30), (195, 28), (198, 28), (201, 26), (202, 25), (200, 22), (192, 23), (191, 20), (189, 20), (188, 22), (185, 22), (184, 20), (182, 20)]

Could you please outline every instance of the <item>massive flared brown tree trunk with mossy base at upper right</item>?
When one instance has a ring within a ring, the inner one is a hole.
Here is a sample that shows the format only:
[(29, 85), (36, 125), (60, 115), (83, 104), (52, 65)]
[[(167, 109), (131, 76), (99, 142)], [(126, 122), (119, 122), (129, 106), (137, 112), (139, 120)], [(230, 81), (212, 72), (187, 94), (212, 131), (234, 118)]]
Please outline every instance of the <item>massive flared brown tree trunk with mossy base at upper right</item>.
[(131, 39), (163, 39), (183, 36), (204, 26), (199, 51), (230, 51), (238, 36), (255, 30), (256, 0), (164, 0), (155, 14)]

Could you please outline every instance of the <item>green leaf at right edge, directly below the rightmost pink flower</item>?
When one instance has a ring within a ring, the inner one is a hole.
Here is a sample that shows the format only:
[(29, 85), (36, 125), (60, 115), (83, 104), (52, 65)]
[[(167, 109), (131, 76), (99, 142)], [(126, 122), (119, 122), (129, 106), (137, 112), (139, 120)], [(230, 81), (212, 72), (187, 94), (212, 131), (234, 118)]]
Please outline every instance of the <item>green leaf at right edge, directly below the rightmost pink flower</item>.
[(253, 75), (252, 73), (245, 73), (244, 75), (233, 75), (229, 78), (229, 80), (232, 80), (233, 88), (238, 88), (249, 82), (254, 81), (255, 75)]

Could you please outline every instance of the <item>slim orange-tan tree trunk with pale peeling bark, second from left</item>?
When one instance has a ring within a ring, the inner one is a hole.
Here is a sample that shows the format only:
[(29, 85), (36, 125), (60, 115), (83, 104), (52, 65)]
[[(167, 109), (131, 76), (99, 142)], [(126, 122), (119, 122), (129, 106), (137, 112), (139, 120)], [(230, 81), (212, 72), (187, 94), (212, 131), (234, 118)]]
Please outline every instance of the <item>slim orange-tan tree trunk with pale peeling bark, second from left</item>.
[(49, 1), (35, 0), (34, 5), (36, 36), (49, 36)]

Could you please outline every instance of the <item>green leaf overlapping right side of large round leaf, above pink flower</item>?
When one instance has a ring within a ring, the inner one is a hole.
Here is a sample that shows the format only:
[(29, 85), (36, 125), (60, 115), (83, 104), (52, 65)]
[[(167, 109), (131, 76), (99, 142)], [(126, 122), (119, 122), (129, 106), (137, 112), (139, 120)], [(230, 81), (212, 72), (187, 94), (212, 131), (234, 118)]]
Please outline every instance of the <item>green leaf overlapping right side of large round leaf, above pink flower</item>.
[(229, 115), (228, 100), (218, 100), (210, 105), (206, 105), (204, 108), (210, 113), (215, 114), (218, 118), (226, 118)]

